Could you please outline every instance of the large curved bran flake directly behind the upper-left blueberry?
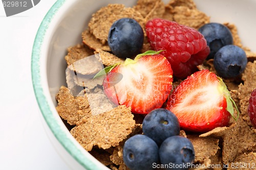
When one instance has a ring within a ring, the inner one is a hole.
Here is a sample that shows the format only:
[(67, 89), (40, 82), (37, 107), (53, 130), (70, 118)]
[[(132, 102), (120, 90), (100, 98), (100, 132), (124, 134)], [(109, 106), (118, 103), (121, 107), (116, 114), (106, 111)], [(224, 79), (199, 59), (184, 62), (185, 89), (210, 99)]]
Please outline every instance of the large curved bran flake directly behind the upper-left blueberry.
[(122, 4), (109, 4), (93, 14), (88, 26), (90, 32), (100, 40), (102, 44), (108, 41), (109, 30), (112, 24), (124, 17), (135, 19), (144, 28), (144, 18), (140, 12), (133, 8), (125, 8)]

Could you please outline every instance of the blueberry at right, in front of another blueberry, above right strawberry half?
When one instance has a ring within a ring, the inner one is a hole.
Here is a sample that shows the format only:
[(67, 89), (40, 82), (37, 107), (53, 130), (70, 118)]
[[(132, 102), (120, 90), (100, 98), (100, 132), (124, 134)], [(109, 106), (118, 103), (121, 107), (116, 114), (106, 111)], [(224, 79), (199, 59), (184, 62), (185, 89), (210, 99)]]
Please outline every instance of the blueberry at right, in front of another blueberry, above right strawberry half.
[(223, 78), (237, 77), (244, 71), (246, 64), (244, 50), (236, 45), (223, 46), (214, 58), (214, 67)]

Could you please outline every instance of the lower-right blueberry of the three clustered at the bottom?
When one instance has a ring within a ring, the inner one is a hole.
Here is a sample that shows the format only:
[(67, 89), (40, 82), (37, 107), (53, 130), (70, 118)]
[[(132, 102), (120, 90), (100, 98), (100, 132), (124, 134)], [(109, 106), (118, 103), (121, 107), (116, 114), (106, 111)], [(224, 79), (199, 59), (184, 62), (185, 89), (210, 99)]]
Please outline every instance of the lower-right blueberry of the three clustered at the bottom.
[(161, 164), (167, 169), (188, 169), (195, 160), (195, 150), (190, 140), (183, 136), (171, 136), (159, 148)]

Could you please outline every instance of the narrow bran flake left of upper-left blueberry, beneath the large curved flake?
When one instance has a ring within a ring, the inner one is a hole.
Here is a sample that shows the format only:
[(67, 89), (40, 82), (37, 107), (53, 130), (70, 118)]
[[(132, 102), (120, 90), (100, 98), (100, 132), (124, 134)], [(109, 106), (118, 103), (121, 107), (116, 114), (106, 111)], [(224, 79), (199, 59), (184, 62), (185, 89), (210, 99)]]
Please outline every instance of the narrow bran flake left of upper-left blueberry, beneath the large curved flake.
[(97, 48), (102, 49), (104, 51), (110, 52), (110, 47), (108, 44), (102, 44), (100, 40), (98, 40), (93, 34), (90, 33), (89, 30), (84, 30), (82, 32), (82, 42), (88, 45), (93, 50)]

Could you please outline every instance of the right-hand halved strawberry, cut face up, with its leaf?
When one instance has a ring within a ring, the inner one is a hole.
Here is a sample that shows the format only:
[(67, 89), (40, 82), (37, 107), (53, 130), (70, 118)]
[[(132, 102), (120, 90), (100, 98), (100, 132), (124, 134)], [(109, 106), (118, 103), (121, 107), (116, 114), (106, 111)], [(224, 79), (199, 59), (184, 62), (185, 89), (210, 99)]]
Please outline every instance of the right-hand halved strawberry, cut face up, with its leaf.
[(166, 109), (178, 117), (182, 129), (207, 132), (229, 124), (230, 115), (234, 117), (232, 104), (234, 101), (222, 79), (204, 69), (177, 86)]

